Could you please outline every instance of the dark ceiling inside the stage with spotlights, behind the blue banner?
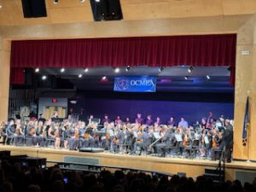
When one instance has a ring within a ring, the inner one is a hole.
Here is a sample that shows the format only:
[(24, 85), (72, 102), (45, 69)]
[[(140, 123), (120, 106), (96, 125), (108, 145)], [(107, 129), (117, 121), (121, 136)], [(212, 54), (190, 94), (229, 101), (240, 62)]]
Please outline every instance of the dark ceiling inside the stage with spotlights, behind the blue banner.
[[(230, 71), (228, 67), (195, 67), (191, 73), (188, 66), (180, 67), (132, 67), (128, 72), (125, 67), (119, 68), (119, 73), (113, 67), (66, 68), (61, 73), (60, 68), (42, 68), (37, 73), (40, 84), (49, 81), (42, 80), (44, 75), (55, 77), (61, 88), (67, 81), (78, 90), (113, 90), (113, 80), (116, 76), (157, 76), (158, 91), (204, 91), (204, 92), (232, 92), (230, 87)], [(82, 75), (79, 78), (79, 74)], [(210, 79), (207, 79), (207, 75)], [(102, 80), (106, 76), (107, 80)], [(186, 77), (186, 78), (185, 78)], [(42, 83), (43, 82), (43, 83)], [(59, 85), (58, 85), (59, 86)], [(57, 86), (57, 87), (58, 87)]]

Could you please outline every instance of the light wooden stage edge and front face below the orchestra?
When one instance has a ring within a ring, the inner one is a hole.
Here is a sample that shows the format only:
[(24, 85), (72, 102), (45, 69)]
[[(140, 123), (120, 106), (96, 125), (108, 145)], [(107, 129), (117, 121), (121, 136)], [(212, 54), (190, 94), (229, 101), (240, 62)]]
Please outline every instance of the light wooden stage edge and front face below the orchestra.
[[(186, 173), (187, 177), (197, 177), (205, 172), (205, 168), (216, 168), (218, 161), (203, 159), (184, 159), (184, 158), (161, 158), (151, 155), (129, 155), (129, 154), (111, 154), (109, 152), (87, 153), (79, 151), (70, 151), (67, 149), (55, 148), (34, 148), (34, 147), (15, 147), (1, 145), (0, 150), (10, 150), (11, 155), (26, 154), (31, 157), (47, 158), (47, 166), (53, 166), (54, 162), (64, 162), (65, 160), (74, 160), (77, 162), (92, 162), (93, 164), (104, 166), (123, 166), (154, 172), (168, 172), (177, 174)], [(256, 163), (233, 161), (226, 164), (226, 180), (236, 178), (251, 177), (256, 175)]]

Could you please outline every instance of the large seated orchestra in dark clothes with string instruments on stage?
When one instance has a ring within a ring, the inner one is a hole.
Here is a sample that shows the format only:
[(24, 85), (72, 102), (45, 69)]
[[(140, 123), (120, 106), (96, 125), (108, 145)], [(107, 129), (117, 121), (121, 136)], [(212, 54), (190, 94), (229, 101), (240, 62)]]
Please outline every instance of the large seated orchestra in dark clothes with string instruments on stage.
[(218, 119), (210, 112), (201, 122), (189, 125), (184, 117), (174, 117), (164, 123), (160, 117), (155, 120), (148, 114), (143, 119), (137, 113), (132, 122), (118, 115), (103, 119), (90, 115), (86, 122), (73, 119), (59, 119), (55, 112), (51, 119), (22, 121), (10, 119), (0, 125), (3, 144), (15, 146), (54, 147), (79, 150), (79, 148), (104, 148), (115, 154), (151, 154), (161, 157), (183, 156), (218, 160), (225, 151), (227, 161), (231, 159), (233, 146), (233, 121)]

